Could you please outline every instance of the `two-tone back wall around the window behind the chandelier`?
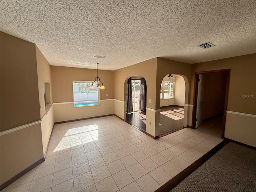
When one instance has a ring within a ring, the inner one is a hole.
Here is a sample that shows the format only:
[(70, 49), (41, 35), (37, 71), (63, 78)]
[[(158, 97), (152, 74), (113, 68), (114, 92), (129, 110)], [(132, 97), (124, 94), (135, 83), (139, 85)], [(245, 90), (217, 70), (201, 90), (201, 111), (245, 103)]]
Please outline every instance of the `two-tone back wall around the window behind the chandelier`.
[(74, 107), (73, 81), (93, 82), (97, 75), (96, 70), (51, 66), (54, 122), (114, 114), (113, 73), (113, 71), (98, 70), (98, 76), (105, 87), (100, 89), (99, 105)]

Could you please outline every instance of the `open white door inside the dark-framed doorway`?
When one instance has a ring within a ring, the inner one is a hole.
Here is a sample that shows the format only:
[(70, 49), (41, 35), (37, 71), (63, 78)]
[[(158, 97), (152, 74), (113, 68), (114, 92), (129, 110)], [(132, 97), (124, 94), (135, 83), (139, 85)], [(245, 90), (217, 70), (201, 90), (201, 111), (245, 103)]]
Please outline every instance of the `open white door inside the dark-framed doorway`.
[(204, 76), (199, 74), (198, 89), (197, 89), (197, 104), (196, 104), (196, 128), (202, 124), (202, 104), (203, 104), (203, 88), (204, 88)]

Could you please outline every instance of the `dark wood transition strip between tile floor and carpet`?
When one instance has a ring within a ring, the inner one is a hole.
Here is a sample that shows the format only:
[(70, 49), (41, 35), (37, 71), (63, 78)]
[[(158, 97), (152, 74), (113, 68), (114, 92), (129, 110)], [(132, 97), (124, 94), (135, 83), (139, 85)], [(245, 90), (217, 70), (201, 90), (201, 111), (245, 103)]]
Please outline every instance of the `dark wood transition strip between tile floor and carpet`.
[(172, 188), (174, 188), (177, 184), (179, 184), (182, 180), (184, 180), (184, 178), (186, 178), (189, 174), (191, 174), (194, 170), (196, 170), (199, 166), (201, 166), (204, 162), (206, 162), (206, 160), (212, 157), (216, 152), (218, 152), (218, 150), (220, 150), (222, 147), (228, 144), (228, 142), (229, 141), (224, 140), (221, 143), (219, 143), (212, 150), (204, 154), (201, 158), (196, 160), (194, 163), (192, 163), (190, 166), (188, 166), (178, 175), (174, 176), (174, 178), (169, 180), (166, 184), (158, 188), (155, 192), (168, 192), (172, 190)]

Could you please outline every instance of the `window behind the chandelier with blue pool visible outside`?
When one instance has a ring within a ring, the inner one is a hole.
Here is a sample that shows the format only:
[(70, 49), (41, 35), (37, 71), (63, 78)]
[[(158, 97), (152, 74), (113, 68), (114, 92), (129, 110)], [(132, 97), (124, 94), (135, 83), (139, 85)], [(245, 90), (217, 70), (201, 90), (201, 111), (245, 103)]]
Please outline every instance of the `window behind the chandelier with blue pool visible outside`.
[(89, 106), (99, 104), (99, 92), (94, 84), (95, 88), (90, 89), (92, 82), (85, 81), (73, 81), (73, 93), (74, 93), (74, 106)]

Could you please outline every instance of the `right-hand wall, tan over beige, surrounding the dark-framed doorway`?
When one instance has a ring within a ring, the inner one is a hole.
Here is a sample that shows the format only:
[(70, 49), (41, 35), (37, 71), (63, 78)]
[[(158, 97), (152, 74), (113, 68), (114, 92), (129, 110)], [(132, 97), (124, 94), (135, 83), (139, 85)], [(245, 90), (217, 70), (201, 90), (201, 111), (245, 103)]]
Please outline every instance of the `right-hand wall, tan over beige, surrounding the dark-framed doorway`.
[(255, 117), (247, 118), (247, 115), (256, 115), (256, 98), (253, 97), (256, 95), (256, 54), (192, 64), (189, 103), (193, 103), (194, 73), (220, 69), (231, 69), (227, 110), (238, 113), (227, 114), (224, 136), (255, 146)]

